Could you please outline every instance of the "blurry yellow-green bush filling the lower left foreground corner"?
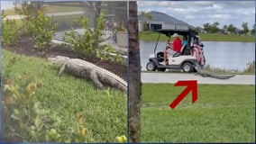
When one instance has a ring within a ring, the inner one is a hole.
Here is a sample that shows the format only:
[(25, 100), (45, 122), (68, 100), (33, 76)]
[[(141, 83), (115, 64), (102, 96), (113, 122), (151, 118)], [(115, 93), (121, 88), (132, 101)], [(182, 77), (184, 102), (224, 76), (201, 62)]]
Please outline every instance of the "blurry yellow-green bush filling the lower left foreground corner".
[[(41, 83), (33, 83), (32, 76), (10, 76), (15, 58), (6, 64), (2, 75), (2, 130), (3, 141), (10, 142), (92, 142), (83, 125), (82, 115), (63, 130), (61, 120), (44, 109), (36, 95)], [(12, 78), (11, 78), (12, 77)], [(64, 123), (65, 124), (65, 123)], [(69, 130), (67, 132), (67, 130)]]

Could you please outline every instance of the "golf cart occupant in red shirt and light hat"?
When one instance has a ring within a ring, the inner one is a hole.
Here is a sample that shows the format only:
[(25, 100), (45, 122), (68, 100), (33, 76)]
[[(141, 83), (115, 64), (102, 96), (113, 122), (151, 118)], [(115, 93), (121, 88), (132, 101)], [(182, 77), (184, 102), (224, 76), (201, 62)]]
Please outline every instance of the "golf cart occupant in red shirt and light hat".
[(169, 44), (168, 49), (165, 49), (163, 51), (164, 55), (163, 55), (163, 62), (160, 62), (161, 65), (166, 65), (167, 63), (167, 54), (169, 55), (174, 55), (177, 52), (180, 52), (180, 49), (182, 47), (182, 41), (179, 39), (178, 34), (174, 33), (172, 35), (172, 37), (174, 37), (174, 40)]

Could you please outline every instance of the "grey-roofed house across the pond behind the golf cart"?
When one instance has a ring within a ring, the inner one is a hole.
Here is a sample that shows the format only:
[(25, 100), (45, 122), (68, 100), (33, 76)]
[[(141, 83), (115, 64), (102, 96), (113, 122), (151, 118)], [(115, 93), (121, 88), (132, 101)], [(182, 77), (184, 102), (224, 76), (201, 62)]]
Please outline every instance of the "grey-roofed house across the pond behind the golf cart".
[(156, 11), (151, 11), (147, 14), (151, 15), (151, 19), (149, 19), (146, 15), (139, 15), (139, 31), (143, 31), (145, 29), (151, 31), (158, 29), (187, 30), (189, 27), (189, 24), (179, 21), (168, 14)]

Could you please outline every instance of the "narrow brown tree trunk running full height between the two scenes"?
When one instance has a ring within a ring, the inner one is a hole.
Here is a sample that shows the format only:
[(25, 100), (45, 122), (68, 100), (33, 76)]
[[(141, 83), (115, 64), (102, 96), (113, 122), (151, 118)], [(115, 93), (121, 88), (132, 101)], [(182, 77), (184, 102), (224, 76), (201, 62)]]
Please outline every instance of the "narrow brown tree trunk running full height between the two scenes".
[(137, 2), (129, 2), (129, 142), (141, 142), (141, 62)]

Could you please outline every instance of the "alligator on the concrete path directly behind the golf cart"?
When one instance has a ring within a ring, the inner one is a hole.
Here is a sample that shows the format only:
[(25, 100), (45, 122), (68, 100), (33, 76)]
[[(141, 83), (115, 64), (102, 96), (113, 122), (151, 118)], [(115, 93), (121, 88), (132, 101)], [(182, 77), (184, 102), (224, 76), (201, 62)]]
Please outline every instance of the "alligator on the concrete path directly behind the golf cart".
[(229, 79), (233, 77), (234, 75), (217, 75), (215, 73), (203, 70), (202, 67), (199, 66), (199, 64), (196, 62), (195, 69), (197, 70), (197, 74), (204, 77), (213, 77), (217, 79)]

